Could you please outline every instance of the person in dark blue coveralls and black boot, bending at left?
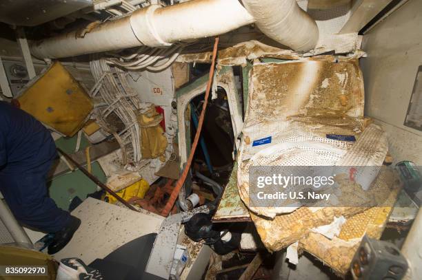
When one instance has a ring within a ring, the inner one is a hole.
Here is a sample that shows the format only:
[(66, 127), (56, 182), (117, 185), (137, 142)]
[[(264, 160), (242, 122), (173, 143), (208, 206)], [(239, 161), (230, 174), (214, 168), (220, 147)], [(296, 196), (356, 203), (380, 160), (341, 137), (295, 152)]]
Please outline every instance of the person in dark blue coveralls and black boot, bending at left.
[(54, 233), (49, 254), (66, 246), (81, 224), (48, 197), (46, 181), (55, 158), (50, 131), (25, 111), (0, 101), (0, 191), (21, 224)]

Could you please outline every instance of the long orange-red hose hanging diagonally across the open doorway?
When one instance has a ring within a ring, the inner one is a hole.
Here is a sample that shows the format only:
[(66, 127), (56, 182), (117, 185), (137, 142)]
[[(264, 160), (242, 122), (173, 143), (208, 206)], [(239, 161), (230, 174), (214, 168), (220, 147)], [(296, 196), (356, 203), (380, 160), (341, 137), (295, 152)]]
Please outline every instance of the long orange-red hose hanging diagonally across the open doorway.
[(197, 128), (197, 133), (195, 134), (194, 142), (192, 144), (192, 149), (190, 150), (190, 155), (188, 158), (188, 162), (186, 162), (185, 169), (183, 170), (183, 173), (181, 174), (181, 177), (179, 180), (177, 180), (176, 186), (174, 186), (174, 189), (172, 191), (172, 194), (170, 195), (170, 199), (168, 200), (167, 204), (165, 204), (165, 207), (163, 208), (163, 211), (161, 211), (161, 215), (164, 217), (167, 217), (170, 211), (173, 208), (174, 202), (177, 200), (177, 195), (179, 195), (180, 189), (183, 186), (183, 183), (186, 180), (186, 176), (188, 176), (188, 172), (190, 169), (190, 165), (192, 164), (193, 156), (195, 153), (195, 150), (197, 149), (199, 136), (201, 134), (202, 125), (203, 125), (203, 118), (205, 117), (205, 110), (207, 109), (208, 105), (208, 96), (210, 96), (210, 90), (212, 86), (212, 78), (214, 77), (214, 67), (215, 67), (215, 61), (217, 58), (217, 49), (219, 45), (219, 37), (215, 38), (214, 43), (214, 49), (212, 50), (212, 61), (211, 61), (211, 67), (210, 67), (210, 76), (208, 78), (208, 84), (207, 89), (205, 90), (205, 99), (204, 103), (202, 105), (202, 111), (201, 116), (199, 117), (199, 123)]

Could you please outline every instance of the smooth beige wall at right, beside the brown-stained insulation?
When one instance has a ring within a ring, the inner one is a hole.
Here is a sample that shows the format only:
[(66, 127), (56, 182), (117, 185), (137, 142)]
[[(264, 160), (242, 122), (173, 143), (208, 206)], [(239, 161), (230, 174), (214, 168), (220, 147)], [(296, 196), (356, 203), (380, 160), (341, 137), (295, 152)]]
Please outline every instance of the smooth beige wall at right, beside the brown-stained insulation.
[(394, 164), (422, 165), (422, 131), (403, 125), (422, 65), (422, 0), (410, 0), (363, 36), (365, 115), (388, 132)]

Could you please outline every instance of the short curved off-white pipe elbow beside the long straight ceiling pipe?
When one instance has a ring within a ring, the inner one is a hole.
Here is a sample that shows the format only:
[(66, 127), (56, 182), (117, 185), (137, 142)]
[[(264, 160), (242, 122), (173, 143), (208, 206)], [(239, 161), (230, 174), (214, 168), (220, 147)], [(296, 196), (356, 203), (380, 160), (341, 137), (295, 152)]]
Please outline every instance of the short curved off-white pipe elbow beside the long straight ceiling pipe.
[(298, 52), (314, 49), (319, 39), (315, 21), (296, 0), (242, 0), (257, 27), (274, 41)]

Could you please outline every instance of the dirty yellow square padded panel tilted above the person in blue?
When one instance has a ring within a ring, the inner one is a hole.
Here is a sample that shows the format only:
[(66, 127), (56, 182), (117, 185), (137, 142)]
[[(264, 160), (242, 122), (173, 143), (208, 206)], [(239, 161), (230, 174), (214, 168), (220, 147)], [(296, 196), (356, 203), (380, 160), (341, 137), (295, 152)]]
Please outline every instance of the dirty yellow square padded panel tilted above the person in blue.
[(85, 89), (59, 62), (34, 78), (17, 99), (23, 111), (66, 136), (83, 127), (93, 108)]

